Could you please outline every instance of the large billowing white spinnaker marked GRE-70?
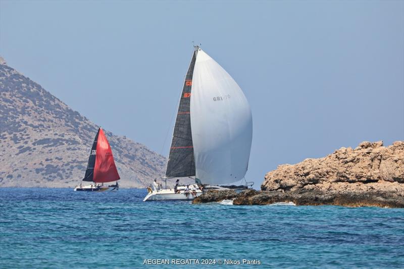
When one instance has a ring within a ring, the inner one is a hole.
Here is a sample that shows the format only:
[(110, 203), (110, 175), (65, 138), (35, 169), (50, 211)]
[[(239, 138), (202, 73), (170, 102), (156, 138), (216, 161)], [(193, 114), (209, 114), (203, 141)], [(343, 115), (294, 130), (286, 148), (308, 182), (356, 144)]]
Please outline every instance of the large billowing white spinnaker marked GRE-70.
[(251, 110), (233, 78), (200, 49), (190, 114), (196, 178), (212, 185), (242, 180), (251, 150)]

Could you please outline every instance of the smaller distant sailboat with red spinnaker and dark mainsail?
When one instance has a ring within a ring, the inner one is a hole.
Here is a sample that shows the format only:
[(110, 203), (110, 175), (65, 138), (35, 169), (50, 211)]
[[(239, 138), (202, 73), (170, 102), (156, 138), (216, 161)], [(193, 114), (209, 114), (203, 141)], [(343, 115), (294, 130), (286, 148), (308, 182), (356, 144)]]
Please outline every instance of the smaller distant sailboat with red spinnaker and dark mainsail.
[[(102, 128), (99, 128), (92, 144), (90, 156), (88, 157), (87, 169), (82, 181), (91, 182), (83, 186), (82, 183), (74, 188), (74, 191), (82, 192), (104, 192), (118, 191), (118, 180), (120, 180), (110, 143)], [(104, 183), (116, 182), (114, 185)]]

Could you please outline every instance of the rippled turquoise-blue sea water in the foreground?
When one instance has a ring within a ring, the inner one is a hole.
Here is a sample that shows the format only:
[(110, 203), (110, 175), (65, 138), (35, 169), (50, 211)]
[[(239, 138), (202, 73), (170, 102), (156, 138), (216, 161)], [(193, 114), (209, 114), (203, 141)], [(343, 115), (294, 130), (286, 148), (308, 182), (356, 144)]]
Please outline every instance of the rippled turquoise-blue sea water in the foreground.
[(0, 189), (0, 266), (220, 268), (225, 259), (259, 260), (249, 265), (257, 268), (404, 266), (404, 209), (144, 203), (145, 195)]

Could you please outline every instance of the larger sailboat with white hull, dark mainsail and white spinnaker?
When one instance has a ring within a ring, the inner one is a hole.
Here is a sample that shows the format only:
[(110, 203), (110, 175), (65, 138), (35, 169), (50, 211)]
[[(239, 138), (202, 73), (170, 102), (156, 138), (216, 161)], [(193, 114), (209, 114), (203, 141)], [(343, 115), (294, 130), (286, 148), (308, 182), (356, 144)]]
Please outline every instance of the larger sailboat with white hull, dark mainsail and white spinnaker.
[[(223, 185), (243, 180), (251, 141), (251, 110), (241, 88), (195, 46), (182, 87), (165, 178), (194, 177), (204, 191), (245, 190), (248, 186)], [(196, 196), (202, 193), (199, 189)], [(192, 199), (166, 188), (149, 191), (143, 201)]]

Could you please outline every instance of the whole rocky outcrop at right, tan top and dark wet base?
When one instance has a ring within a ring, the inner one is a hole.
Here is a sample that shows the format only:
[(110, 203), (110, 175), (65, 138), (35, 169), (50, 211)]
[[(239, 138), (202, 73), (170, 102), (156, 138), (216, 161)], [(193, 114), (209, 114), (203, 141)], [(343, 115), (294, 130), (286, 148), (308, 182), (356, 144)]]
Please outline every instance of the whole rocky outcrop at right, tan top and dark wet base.
[(265, 175), (261, 191), (210, 191), (193, 203), (233, 200), (234, 205), (404, 207), (404, 142), (384, 147), (363, 142), (319, 159), (280, 165)]

